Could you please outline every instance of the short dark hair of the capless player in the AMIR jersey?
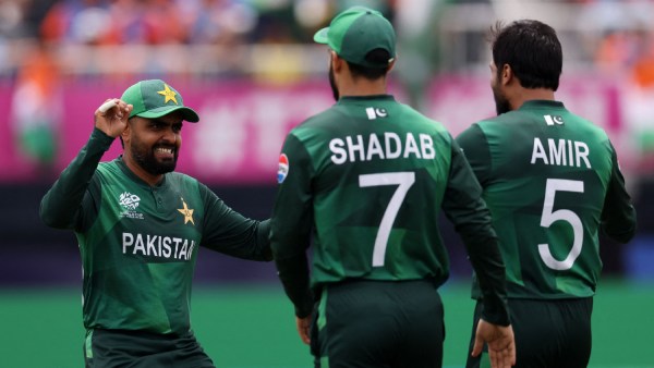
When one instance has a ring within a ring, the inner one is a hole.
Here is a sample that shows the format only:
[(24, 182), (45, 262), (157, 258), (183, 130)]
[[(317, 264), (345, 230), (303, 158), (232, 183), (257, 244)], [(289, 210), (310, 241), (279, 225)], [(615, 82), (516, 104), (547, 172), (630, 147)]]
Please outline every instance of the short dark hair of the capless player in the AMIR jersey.
[(508, 64), (522, 87), (558, 89), (564, 53), (554, 28), (533, 20), (506, 27), (497, 22), (491, 28), (489, 41), (498, 76)]

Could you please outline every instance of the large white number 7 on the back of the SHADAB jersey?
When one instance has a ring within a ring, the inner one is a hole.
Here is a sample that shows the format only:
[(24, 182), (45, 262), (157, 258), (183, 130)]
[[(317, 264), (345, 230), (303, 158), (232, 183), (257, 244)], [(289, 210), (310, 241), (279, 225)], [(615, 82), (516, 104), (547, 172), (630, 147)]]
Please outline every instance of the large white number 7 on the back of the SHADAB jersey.
[(373, 267), (384, 266), (384, 259), (386, 258), (386, 247), (388, 246), (388, 237), (390, 236), (390, 230), (395, 222), (398, 211), (404, 201), (404, 197), (409, 192), (409, 188), (415, 183), (414, 172), (388, 172), (378, 174), (365, 174), (359, 175), (359, 186), (382, 186), (382, 185), (397, 185), (386, 210), (384, 217), (382, 217), (382, 223), (377, 230), (377, 236), (375, 237), (375, 247), (373, 248)]

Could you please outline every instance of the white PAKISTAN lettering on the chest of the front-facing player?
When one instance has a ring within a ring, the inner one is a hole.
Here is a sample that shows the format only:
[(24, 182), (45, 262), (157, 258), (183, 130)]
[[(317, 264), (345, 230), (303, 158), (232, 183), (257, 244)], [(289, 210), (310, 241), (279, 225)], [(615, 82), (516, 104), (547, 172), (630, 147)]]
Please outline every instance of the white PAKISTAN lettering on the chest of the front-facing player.
[(195, 249), (195, 241), (161, 235), (122, 233), (122, 247), (124, 255), (189, 260)]

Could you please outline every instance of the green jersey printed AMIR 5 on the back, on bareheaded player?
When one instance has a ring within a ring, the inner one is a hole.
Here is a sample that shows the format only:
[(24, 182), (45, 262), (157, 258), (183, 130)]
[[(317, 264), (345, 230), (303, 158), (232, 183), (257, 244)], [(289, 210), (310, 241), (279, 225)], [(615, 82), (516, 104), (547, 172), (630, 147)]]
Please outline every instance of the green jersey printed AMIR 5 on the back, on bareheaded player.
[(484, 187), (509, 297), (588, 297), (601, 228), (627, 242), (635, 212), (606, 133), (561, 102), (528, 101), (457, 140)]

